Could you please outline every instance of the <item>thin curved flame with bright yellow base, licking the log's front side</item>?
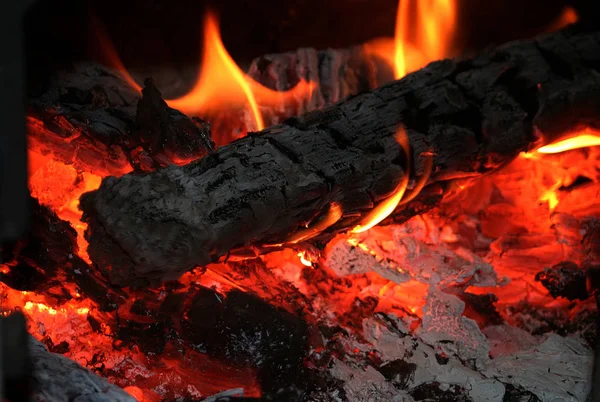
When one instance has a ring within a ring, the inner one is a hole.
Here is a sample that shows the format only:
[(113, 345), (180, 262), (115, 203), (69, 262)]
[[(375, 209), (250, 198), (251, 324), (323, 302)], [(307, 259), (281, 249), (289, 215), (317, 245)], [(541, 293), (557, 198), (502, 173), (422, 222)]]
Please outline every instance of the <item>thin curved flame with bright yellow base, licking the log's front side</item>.
[(362, 233), (362, 232), (365, 232), (365, 231), (371, 229), (373, 226), (377, 225), (379, 222), (381, 222), (382, 220), (387, 218), (389, 214), (394, 212), (394, 210), (400, 203), (400, 200), (402, 200), (402, 196), (404, 195), (404, 192), (406, 191), (406, 188), (408, 187), (408, 177), (409, 177), (409, 172), (411, 169), (408, 136), (406, 135), (406, 130), (404, 129), (404, 127), (400, 127), (400, 129), (396, 133), (396, 141), (398, 141), (398, 143), (400, 144), (400, 147), (402, 148), (402, 150), (404, 151), (404, 153), (406, 155), (407, 166), (406, 166), (406, 169), (404, 170), (405, 175), (402, 178), (402, 180), (400, 181), (400, 183), (398, 184), (398, 186), (396, 187), (396, 189), (394, 190), (394, 193), (390, 197), (388, 197), (386, 200), (381, 202), (379, 205), (377, 205), (375, 208), (373, 208), (367, 214), (367, 216), (365, 216), (363, 218), (362, 223), (355, 226), (351, 230), (352, 233)]

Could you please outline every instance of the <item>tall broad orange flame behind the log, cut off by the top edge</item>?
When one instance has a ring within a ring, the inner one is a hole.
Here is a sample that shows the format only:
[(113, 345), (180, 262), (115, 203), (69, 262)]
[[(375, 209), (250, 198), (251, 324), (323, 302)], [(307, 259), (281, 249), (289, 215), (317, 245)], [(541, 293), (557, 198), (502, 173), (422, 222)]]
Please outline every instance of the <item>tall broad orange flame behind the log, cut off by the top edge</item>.
[[(415, 6), (416, 10), (414, 10)], [(419, 0), (418, 2), (400, 0), (398, 2), (394, 46), (396, 79), (423, 67), (430, 61), (449, 56), (455, 28), (455, 10), (455, 0)], [(415, 19), (410, 18), (411, 11), (416, 11)], [(410, 22), (413, 21), (414, 23), (411, 24)], [(411, 31), (413, 27), (416, 27), (416, 30)], [(419, 50), (421, 57), (415, 57), (413, 46)]]

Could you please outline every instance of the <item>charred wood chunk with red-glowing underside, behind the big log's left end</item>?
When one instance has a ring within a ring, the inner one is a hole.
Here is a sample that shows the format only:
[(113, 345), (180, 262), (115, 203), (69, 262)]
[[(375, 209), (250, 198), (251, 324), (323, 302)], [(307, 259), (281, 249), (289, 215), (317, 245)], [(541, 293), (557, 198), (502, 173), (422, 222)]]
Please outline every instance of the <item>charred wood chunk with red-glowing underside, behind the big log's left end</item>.
[(60, 74), (29, 100), (29, 149), (105, 175), (153, 170), (210, 151), (210, 128), (169, 108), (148, 82), (142, 98), (99, 65)]

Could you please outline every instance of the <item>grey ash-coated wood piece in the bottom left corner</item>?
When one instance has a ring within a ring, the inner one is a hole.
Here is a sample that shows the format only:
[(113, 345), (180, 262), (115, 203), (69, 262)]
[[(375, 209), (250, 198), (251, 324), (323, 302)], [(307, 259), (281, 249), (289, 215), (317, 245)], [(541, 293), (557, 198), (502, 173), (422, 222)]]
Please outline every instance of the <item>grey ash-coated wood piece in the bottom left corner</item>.
[(33, 398), (42, 402), (135, 402), (121, 388), (98, 377), (74, 361), (51, 353), (33, 337), (29, 353), (33, 363)]

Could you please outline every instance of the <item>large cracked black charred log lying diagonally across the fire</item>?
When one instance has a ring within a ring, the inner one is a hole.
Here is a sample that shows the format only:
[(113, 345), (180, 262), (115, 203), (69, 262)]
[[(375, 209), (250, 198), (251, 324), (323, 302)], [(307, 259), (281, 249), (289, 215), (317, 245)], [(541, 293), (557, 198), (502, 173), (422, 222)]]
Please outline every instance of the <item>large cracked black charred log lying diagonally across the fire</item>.
[[(433, 170), (420, 197), (438, 203), (546, 140), (600, 127), (600, 34), (574, 29), (441, 61), (371, 92), (285, 121), (186, 166), (107, 178), (81, 198), (94, 263), (118, 285), (176, 278), (232, 250), (268, 251), (307, 225), (343, 216), (316, 240), (361, 223), (408, 175)], [(406, 127), (414, 161), (396, 141)], [(416, 207), (414, 206), (416, 205)], [(329, 214), (331, 216), (331, 214)]]

